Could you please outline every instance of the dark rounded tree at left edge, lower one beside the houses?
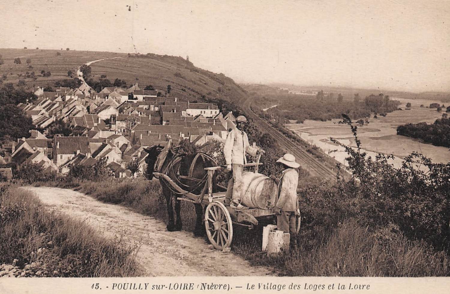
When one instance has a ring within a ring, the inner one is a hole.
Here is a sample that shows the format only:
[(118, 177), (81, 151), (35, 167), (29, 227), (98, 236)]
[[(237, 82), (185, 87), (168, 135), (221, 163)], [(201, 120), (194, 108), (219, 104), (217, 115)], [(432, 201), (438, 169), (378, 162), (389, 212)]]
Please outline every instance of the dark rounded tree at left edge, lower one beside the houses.
[(28, 137), (30, 129), (33, 129), (31, 117), (19, 107), (12, 104), (0, 106), (0, 137)]

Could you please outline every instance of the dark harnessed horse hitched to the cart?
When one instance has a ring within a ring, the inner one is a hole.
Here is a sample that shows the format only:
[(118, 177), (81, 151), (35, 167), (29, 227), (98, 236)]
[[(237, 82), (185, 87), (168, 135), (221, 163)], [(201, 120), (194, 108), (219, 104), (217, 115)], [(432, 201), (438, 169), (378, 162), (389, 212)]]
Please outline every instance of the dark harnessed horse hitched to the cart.
[[(153, 146), (147, 149), (149, 153), (146, 158), (147, 176), (153, 178), (153, 172), (166, 174), (175, 183), (177, 183), (185, 191), (199, 195), (203, 187), (206, 185), (207, 171), (205, 167), (216, 166), (216, 161), (205, 153), (197, 152), (194, 154), (181, 153), (179, 147), (174, 147), (171, 139), (167, 141), (164, 147)], [(181, 177), (180, 177), (181, 176)], [(181, 200), (180, 193), (175, 191), (170, 183), (167, 183), (162, 177), (159, 178), (162, 187), (162, 194), (166, 198), (167, 203), (167, 231), (180, 231), (182, 228), (180, 210)], [(216, 177), (213, 177), (213, 191), (219, 190), (216, 184)], [(175, 216), (172, 200), (175, 200)], [(205, 227), (203, 226), (203, 215), (205, 208), (202, 204), (194, 203), (196, 222), (194, 235), (203, 236)]]

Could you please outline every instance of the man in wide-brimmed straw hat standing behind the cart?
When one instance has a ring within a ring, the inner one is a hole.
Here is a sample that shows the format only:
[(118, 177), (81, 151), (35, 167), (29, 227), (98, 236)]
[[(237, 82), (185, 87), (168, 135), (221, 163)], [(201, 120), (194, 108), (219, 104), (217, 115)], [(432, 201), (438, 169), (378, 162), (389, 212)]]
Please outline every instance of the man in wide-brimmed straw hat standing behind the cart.
[(284, 165), (283, 175), (278, 182), (279, 198), (273, 208), (277, 216), (277, 227), (280, 231), (290, 233), (291, 248), (297, 246), (297, 230), (295, 221), (297, 216), (300, 217), (297, 199), (298, 172), (300, 166), (295, 162), (292, 154), (286, 153), (277, 160), (279, 164)]

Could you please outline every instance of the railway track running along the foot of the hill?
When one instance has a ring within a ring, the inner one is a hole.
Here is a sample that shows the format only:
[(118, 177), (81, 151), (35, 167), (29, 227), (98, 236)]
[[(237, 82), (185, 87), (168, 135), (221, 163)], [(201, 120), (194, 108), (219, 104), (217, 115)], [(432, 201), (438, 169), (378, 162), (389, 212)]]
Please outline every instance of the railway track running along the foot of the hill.
[(247, 102), (248, 115), (253, 119), (254, 123), (266, 133), (272, 135), (275, 140), (279, 143), (281, 147), (284, 147), (286, 150), (291, 152), (297, 162), (300, 164), (302, 169), (309, 172), (311, 176), (321, 177), (321, 178), (335, 178), (336, 172), (324, 166), (321, 162), (317, 161), (314, 157), (312, 157), (306, 150), (302, 148), (302, 146), (292, 141), (289, 138), (286, 138), (284, 134), (282, 134), (278, 129), (275, 129), (270, 123), (261, 117), (255, 114), (251, 107), (250, 102)]

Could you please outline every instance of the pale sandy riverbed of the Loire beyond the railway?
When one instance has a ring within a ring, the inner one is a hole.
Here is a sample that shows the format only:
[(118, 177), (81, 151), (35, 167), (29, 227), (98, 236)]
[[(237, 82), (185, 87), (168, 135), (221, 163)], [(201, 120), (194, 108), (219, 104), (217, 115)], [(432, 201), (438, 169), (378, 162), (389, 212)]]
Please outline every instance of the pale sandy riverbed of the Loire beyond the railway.
[[(409, 100), (401, 99), (403, 103), (400, 107), (405, 107)], [(411, 101), (410, 110), (393, 111), (387, 116), (378, 116), (378, 118), (369, 119), (369, 125), (358, 127), (358, 134), (361, 140), (362, 148), (374, 157), (376, 152), (384, 154), (393, 154), (395, 159), (393, 163), (399, 167), (401, 160), (411, 152), (417, 151), (432, 159), (433, 162), (447, 163), (450, 161), (450, 152), (448, 148), (437, 147), (431, 144), (421, 143), (419, 140), (399, 136), (396, 134), (396, 127), (406, 123), (428, 122), (433, 123), (440, 118), (442, 113), (436, 109), (422, 108), (420, 105), (424, 101)], [(428, 104), (433, 101), (427, 101)], [(339, 119), (331, 121), (306, 120), (303, 124), (289, 124), (289, 129), (295, 130), (302, 139), (320, 147), (325, 153), (338, 149), (338, 152), (330, 153), (341, 163), (345, 162), (348, 156), (342, 148), (337, 147), (329, 140), (329, 137), (338, 139), (341, 143), (355, 147), (351, 131), (344, 125), (339, 125)]]

